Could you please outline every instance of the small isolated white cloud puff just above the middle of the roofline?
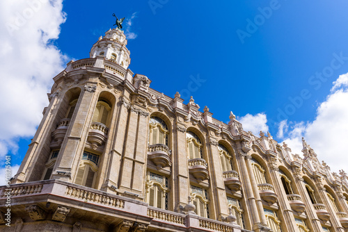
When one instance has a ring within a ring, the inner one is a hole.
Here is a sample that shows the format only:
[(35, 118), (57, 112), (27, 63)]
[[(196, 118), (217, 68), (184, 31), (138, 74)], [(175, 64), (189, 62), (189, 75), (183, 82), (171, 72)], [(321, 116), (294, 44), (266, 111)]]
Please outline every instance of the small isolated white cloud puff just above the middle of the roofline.
[(267, 115), (258, 113), (257, 115), (247, 114), (243, 117), (238, 117), (242, 123), (244, 131), (251, 131), (254, 135), (258, 135), (260, 131), (269, 131), (267, 126)]

